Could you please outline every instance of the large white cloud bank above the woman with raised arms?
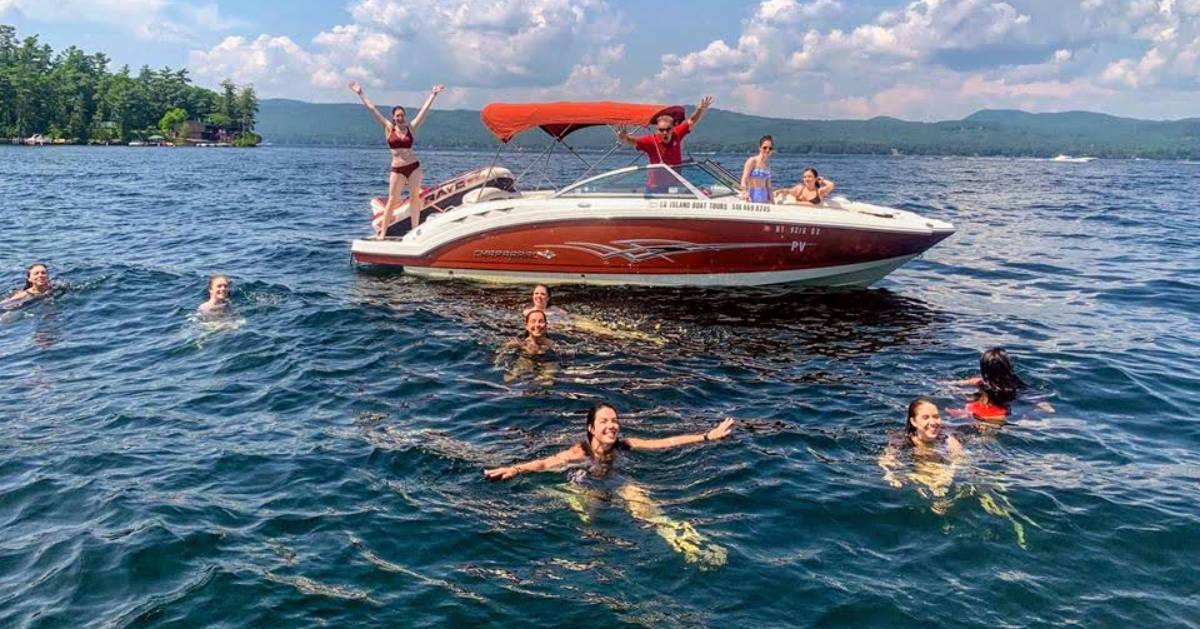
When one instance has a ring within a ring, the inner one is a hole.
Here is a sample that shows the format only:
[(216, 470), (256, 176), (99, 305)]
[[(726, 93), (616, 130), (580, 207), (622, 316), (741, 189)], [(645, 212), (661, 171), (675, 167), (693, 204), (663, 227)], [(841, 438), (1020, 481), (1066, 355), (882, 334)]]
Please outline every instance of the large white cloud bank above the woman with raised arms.
[(614, 42), (623, 18), (602, 0), (356, 0), (349, 13), (353, 24), (310, 46), (287, 40), (296, 47), (287, 68), (259, 62), (264, 47), (283, 49), (270, 35), (193, 50), (190, 65), (200, 77), (236, 73), (308, 94), (348, 78), (398, 94), (432, 83), (574, 89), (586, 77), (612, 88), (607, 67), (624, 54)]

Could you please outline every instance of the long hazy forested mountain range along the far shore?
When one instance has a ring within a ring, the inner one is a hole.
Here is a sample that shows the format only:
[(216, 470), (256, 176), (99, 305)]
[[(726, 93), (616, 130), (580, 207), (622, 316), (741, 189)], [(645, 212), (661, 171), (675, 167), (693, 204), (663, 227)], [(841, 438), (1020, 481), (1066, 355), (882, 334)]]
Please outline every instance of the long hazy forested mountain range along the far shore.
[[(383, 108), (385, 112), (390, 107)], [(409, 107), (409, 112), (415, 112)], [(256, 131), (274, 144), (382, 144), (383, 134), (356, 103), (310, 103), (266, 98)], [(1060, 154), (1094, 157), (1200, 158), (1200, 118), (1138, 120), (1092, 112), (1028, 113), (984, 109), (962, 120), (912, 122), (895, 118), (869, 120), (799, 120), (763, 118), (713, 109), (688, 138), (691, 151), (752, 151), (772, 134), (781, 152), (984, 155), (1050, 157)], [(479, 112), (434, 109), (418, 142), (439, 148), (496, 148)], [(512, 144), (544, 145), (540, 132), (518, 136)], [(580, 131), (572, 146), (612, 145), (605, 127)]]

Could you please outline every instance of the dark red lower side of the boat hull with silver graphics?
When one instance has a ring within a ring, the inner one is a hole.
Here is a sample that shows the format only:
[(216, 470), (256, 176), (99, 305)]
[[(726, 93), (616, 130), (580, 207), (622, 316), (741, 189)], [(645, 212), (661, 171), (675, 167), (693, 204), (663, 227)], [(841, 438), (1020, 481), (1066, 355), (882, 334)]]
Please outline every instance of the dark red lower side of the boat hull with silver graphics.
[(354, 259), (508, 272), (755, 272), (912, 256), (947, 235), (768, 222), (592, 218), (497, 229), (451, 242), (428, 256), (355, 253)]

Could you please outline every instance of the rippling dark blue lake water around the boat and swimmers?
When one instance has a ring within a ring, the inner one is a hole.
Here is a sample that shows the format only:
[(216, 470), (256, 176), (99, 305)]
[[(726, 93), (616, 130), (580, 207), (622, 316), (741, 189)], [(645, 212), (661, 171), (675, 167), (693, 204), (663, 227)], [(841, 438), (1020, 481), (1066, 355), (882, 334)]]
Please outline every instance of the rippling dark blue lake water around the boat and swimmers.
[[(496, 359), (527, 289), (350, 264), (386, 160), (0, 146), (4, 283), (71, 286), (0, 312), (0, 625), (1200, 624), (1200, 164), (781, 155), (959, 233), (871, 289), (562, 288), (599, 333), (530, 367)], [(1056, 412), (950, 417), (948, 492), (889, 486), (907, 400), (948, 417), (995, 345)], [(724, 565), (617, 491), (482, 480), (601, 399), (739, 420), (619, 462)]]

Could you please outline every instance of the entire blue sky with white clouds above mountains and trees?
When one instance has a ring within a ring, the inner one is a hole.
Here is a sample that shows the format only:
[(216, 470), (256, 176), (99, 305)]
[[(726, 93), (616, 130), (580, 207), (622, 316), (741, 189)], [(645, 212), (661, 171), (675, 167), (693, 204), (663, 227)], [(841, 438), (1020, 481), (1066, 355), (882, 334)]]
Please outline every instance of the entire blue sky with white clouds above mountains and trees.
[(782, 118), (1200, 116), (1200, 0), (0, 0), (0, 22), (265, 97), (619, 98)]

